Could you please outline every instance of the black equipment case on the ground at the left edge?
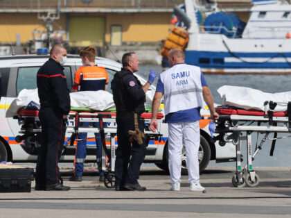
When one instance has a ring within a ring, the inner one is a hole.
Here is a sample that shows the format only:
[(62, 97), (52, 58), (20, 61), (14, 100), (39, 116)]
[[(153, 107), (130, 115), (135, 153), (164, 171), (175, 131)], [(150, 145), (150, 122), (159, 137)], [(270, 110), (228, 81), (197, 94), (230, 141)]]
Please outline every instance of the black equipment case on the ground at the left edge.
[(30, 192), (32, 168), (0, 168), (0, 192)]

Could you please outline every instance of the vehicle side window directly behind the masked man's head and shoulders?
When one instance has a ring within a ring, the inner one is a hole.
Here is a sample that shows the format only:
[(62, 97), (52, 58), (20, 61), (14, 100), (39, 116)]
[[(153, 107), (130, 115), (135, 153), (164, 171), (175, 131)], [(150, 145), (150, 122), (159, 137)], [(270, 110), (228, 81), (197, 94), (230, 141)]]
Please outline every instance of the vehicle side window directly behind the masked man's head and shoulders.
[[(36, 75), (39, 67), (19, 67), (17, 74), (17, 95), (23, 89), (32, 90), (37, 88)], [(67, 79), (67, 85), (69, 90), (72, 88), (71, 81), (71, 67), (64, 67), (64, 75)]]

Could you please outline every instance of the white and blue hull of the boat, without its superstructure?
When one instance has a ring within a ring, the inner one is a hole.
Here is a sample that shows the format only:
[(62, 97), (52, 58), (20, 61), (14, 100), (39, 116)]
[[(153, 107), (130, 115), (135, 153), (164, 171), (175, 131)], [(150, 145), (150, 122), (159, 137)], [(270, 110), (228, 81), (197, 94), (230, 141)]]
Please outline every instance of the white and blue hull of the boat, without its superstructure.
[[(185, 51), (204, 74), (291, 74), (291, 39), (229, 39), (199, 34)], [(196, 48), (196, 49), (194, 49)]]

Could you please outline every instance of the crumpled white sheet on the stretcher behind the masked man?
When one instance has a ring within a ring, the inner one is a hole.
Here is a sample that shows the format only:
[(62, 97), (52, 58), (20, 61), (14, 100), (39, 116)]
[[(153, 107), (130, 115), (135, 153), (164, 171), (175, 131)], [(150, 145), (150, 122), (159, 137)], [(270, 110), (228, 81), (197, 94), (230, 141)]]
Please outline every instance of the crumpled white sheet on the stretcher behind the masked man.
[[(113, 96), (111, 93), (99, 91), (72, 92), (71, 107), (90, 108), (92, 110), (106, 110), (114, 107)], [(30, 101), (39, 103), (37, 89), (21, 90), (17, 99), (14, 99), (6, 112), (6, 117), (17, 115), (17, 110), (27, 106)]]

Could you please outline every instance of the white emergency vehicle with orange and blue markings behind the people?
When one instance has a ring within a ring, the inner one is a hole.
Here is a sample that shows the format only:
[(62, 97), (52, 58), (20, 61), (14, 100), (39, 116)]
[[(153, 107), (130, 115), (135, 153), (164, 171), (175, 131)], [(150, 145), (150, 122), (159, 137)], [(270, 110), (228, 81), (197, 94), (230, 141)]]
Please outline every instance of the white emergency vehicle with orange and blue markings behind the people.
[[(19, 92), (26, 89), (35, 89), (36, 74), (39, 67), (48, 60), (48, 55), (21, 55), (21, 56), (0, 56), (0, 73), (2, 75), (2, 97), (0, 101), (0, 162), (35, 162), (37, 156), (33, 155), (25, 149), (23, 144), (15, 141), (15, 137), (19, 135), (20, 125), (17, 119), (6, 118), (6, 110), (10, 103), (17, 97)], [(105, 67), (109, 74), (109, 92), (111, 92), (110, 81), (114, 74), (121, 69), (121, 64), (107, 58), (96, 58), (96, 64), (99, 67)], [(76, 70), (82, 65), (82, 60), (79, 56), (68, 55), (67, 62), (64, 65), (64, 74), (67, 78), (69, 90), (73, 84), (73, 76)], [(142, 84), (146, 80), (139, 75), (136, 75)], [(152, 97), (155, 93), (155, 86), (151, 85), (148, 95)], [(147, 98), (149, 99), (149, 98)], [(163, 108), (163, 105), (161, 105)], [(202, 115), (209, 115), (209, 110), (203, 108)], [(201, 120), (201, 145), (199, 151), (200, 170), (203, 171), (209, 164), (209, 160), (217, 162), (225, 162), (236, 158), (235, 146), (227, 143), (220, 146), (218, 143), (213, 143), (208, 130), (209, 120)], [(161, 169), (168, 170), (168, 126), (165, 123), (161, 124), (161, 140), (150, 141), (147, 146), (144, 162), (153, 162)], [(69, 135), (68, 135), (69, 136)], [(67, 140), (67, 139), (66, 139)], [(96, 161), (96, 146), (94, 140), (87, 141), (87, 162)], [(62, 156), (62, 162), (72, 162), (75, 155), (75, 146), (69, 146), (69, 150)], [(186, 170), (186, 153), (183, 151), (181, 157), (182, 166)]]

